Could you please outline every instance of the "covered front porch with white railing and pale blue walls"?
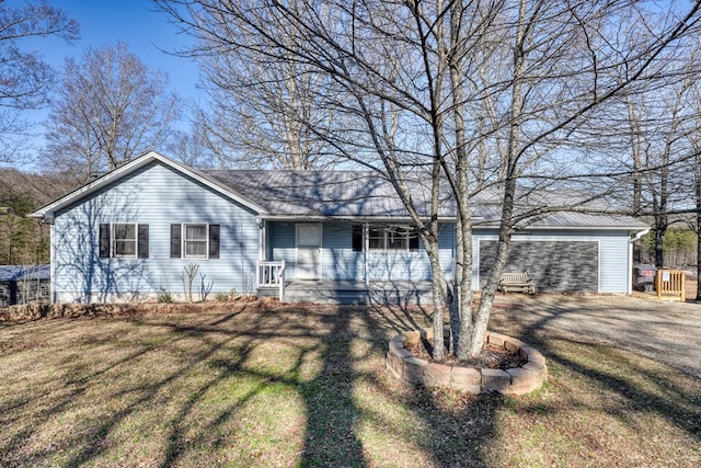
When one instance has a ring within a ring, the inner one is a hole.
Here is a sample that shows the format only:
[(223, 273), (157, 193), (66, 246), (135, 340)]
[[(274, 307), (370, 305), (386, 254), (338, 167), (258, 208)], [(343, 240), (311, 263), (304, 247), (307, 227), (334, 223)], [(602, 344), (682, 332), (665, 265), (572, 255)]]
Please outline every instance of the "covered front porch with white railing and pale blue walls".
[[(430, 305), (428, 259), (410, 225), (331, 220), (260, 224), (256, 292), (287, 303)], [(452, 266), (452, 228), (441, 256)]]

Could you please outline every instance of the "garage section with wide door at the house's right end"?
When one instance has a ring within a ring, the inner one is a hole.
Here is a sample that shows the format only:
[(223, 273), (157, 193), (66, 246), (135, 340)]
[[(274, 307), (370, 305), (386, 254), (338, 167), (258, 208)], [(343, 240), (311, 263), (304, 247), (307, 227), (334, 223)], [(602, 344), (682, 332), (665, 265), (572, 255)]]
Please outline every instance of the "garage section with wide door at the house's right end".
[[(541, 293), (629, 294), (632, 240), (645, 229), (625, 217), (556, 214), (513, 237), (504, 271), (527, 272)], [(495, 231), (475, 231), (473, 281), (480, 287), (496, 246)]]

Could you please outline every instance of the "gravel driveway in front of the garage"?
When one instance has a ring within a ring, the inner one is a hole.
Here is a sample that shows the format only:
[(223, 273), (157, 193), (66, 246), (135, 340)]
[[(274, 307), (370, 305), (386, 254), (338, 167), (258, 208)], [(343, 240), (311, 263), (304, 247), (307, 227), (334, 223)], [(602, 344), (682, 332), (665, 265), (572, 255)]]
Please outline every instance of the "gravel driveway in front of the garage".
[(508, 295), (509, 318), (532, 330), (619, 347), (701, 378), (701, 304), (625, 296)]

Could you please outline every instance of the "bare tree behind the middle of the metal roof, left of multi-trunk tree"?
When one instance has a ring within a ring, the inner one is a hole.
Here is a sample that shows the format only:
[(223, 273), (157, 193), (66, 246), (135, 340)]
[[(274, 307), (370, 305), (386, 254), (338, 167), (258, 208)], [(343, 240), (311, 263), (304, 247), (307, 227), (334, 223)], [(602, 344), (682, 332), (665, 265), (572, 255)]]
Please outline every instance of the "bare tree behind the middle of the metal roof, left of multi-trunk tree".
[[(199, 19), (225, 25), (226, 4), (212, 2), (212, 7)], [(297, 41), (287, 25), (269, 23), (268, 27), (278, 27), (275, 34), (290, 46)], [(235, 28), (191, 32), (198, 45), (181, 53), (199, 64), (209, 105), (207, 112), (199, 112), (198, 122), (221, 167), (306, 170), (338, 161), (333, 147), (318, 135), (327, 132), (334, 118), (321, 103), (329, 85), (326, 75), (291, 54), (275, 60), (253, 52), (255, 38), (241, 36)], [(246, 46), (233, 46), (241, 42)]]

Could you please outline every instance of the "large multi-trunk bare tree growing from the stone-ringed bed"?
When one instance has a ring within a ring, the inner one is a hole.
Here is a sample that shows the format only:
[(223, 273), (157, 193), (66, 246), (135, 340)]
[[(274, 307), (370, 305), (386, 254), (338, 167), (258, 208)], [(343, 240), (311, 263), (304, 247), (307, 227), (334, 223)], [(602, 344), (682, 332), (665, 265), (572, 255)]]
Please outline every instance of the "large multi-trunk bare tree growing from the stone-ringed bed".
[[(571, 187), (579, 162), (596, 168), (582, 159), (579, 137), (643, 75), (664, 83), (674, 67), (662, 53), (699, 23), (698, 2), (683, 12), (634, 1), (158, 3), (183, 30), (212, 39), (200, 53), (239, 47), (326, 78), (320, 104), (341, 125), (309, 127), (393, 184), (430, 262), (436, 342), (448, 306), (460, 358), (481, 352), (514, 231), (549, 209), (585, 209), (598, 195), (552, 207), (526, 204), (535, 197), (517, 191)], [(473, 310), (471, 204), (487, 187), (499, 201), (498, 247)], [(455, 282), (438, 255), (447, 206), (458, 227)], [(434, 357), (443, 358), (441, 346)]]

